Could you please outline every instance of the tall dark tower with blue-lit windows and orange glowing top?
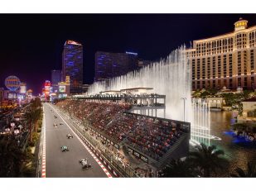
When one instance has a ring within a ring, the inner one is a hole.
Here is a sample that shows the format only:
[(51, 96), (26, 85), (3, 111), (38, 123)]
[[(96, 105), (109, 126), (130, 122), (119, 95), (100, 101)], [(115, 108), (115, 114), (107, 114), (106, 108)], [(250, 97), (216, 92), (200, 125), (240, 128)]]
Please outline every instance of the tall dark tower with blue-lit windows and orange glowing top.
[(83, 45), (65, 41), (62, 53), (62, 79), (70, 76), (70, 93), (80, 93), (83, 85)]

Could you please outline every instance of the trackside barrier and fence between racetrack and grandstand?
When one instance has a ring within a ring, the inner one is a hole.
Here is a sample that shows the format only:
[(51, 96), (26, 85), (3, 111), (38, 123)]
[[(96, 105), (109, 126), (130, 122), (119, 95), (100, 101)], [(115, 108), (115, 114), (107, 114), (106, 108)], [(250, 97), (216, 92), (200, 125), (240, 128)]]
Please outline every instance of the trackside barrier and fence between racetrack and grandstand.
[[(106, 167), (116, 177), (139, 177), (135, 173), (135, 170), (133, 170), (131, 167), (124, 166), (123, 163), (118, 160), (117, 155), (114, 155), (113, 152), (109, 151), (104, 145), (100, 143), (100, 141), (96, 140), (93, 136), (90, 136), (88, 131), (84, 131), (84, 126), (80, 126), (70, 120), (70, 117), (60, 109), (57, 109), (57, 111), (60, 112), (69, 123), (71, 123), (72, 127), (75, 127), (75, 131), (78, 133), (79, 136), (83, 137), (82, 140), (85, 141), (85, 144), (89, 146), (94, 154), (98, 156), (99, 160), (101, 160), (103, 164), (106, 165)], [(78, 119), (76, 120), (79, 121)]]

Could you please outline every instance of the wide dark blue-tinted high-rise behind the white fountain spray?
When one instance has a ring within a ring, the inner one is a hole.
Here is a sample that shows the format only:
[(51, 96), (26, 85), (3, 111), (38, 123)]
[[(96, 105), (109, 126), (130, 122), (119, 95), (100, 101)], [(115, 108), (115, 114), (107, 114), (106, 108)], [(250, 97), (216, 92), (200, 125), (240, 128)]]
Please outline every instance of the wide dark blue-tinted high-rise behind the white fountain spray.
[(138, 69), (138, 54), (133, 52), (95, 54), (95, 81), (111, 79)]

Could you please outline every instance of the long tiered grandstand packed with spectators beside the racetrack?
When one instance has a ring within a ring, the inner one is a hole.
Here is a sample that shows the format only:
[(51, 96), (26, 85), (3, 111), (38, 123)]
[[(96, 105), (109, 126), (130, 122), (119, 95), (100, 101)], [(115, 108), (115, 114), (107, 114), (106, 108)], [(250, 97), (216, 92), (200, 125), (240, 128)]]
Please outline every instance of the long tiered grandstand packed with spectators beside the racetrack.
[[(160, 96), (150, 96), (153, 95)], [(134, 103), (123, 102), (117, 95), (105, 98), (65, 99), (56, 105), (86, 124), (86, 130), (99, 137), (109, 149), (120, 150), (128, 158), (134, 157), (157, 169), (167, 165), (171, 158), (188, 154), (190, 123), (131, 113), (128, 111)]]

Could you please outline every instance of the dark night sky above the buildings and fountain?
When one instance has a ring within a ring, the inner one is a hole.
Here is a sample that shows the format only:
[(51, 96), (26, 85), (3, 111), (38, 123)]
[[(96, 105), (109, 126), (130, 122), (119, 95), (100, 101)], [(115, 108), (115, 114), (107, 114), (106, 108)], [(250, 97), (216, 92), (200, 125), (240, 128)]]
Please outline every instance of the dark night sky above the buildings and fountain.
[(51, 69), (61, 69), (68, 39), (84, 45), (84, 83), (91, 84), (97, 50), (159, 60), (179, 45), (234, 31), (239, 17), (256, 25), (256, 14), (0, 14), (0, 87), (14, 74), (40, 93)]

